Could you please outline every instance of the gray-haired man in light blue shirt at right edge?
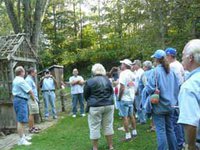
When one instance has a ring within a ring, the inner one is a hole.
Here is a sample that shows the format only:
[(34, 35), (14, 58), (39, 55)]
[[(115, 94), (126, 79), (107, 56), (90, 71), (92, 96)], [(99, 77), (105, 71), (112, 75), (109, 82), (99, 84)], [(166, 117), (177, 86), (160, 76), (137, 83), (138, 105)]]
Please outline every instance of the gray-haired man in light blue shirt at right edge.
[(183, 67), (190, 74), (179, 93), (178, 123), (184, 126), (186, 147), (196, 150), (195, 142), (200, 142), (200, 135), (197, 135), (200, 124), (200, 40), (189, 41), (182, 54)]

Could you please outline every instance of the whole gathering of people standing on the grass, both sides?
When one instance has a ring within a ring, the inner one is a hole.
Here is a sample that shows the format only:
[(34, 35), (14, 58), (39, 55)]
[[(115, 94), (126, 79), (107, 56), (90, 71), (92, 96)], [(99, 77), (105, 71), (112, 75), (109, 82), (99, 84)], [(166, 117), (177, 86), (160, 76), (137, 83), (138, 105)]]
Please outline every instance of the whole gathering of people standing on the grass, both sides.
[[(98, 149), (98, 140), (103, 130), (108, 149), (113, 150), (114, 109), (122, 118), (125, 131), (122, 142), (129, 142), (140, 134), (136, 122), (143, 125), (150, 119), (151, 131), (157, 135), (158, 150), (200, 149), (200, 40), (189, 41), (182, 52), (182, 63), (177, 59), (175, 48), (156, 50), (150, 60), (124, 59), (120, 67), (106, 72), (102, 64), (94, 64), (92, 77), (84, 81), (73, 70), (69, 78), (72, 96), (72, 117), (88, 113), (88, 125), (92, 149)], [(150, 59), (150, 58), (149, 58)], [(38, 105), (36, 70), (30, 68), (24, 80), (25, 71), (19, 66), (15, 69), (13, 81), (14, 109), (20, 135), (19, 145), (30, 145), (30, 137), (24, 134), (24, 124), (29, 121), (29, 131), (38, 132), (34, 126), (33, 114)], [(52, 115), (57, 119), (55, 109), (56, 81), (49, 70), (40, 81), (45, 104), (45, 119), (48, 120), (48, 103)], [(86, 107), (84, 107), (84, 99)], [(29, 106), (29, 107), (27, 107)], [(32, 107), (34, 106), (34, 107)], [(29, 111), (29, 112), (28, 112)], [(29, 118), (28, 118), (29, 114)]]

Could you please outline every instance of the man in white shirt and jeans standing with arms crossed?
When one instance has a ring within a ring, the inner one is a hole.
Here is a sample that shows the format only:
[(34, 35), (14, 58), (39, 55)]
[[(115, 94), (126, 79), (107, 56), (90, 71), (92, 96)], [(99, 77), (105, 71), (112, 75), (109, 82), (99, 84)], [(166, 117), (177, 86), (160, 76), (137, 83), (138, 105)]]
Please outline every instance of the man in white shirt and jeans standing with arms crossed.
[(69, 78), (71, 85), (71, 95), (72, 95), (72, 117), (76, 117), (77, 113), (77, 103), (80, 104), (80, 114), (82, 117), (85, 116), (84, 113), (84, 98), (83, 98), (83, 84), (84, 79), (82, 76), (78, 75), (78, 70), (73, 69), (73, 76)]

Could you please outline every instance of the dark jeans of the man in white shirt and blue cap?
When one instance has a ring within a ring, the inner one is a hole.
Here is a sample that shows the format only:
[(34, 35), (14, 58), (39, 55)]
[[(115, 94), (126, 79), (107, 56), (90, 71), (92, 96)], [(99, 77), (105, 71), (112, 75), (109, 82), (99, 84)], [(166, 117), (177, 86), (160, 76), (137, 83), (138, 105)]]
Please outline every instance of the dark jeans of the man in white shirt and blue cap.
[(174, 126), (174, 132), (176, 135), (177, 143), (178, 143), (178, 150), (181, 150), (183, 148), (184, 140), (184, 129), (181, 124), (178, 124), (178, 116), (179, 112), (177, 109), (173, 110), (173, 116), (172, 116), (172, 122)]

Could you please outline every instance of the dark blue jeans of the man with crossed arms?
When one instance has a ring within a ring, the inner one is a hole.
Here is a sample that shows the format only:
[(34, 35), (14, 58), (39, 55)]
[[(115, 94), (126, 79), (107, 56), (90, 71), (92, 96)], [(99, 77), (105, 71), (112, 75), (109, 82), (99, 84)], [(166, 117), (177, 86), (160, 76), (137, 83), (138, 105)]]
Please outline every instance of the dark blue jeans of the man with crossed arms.
[(77, 103), (80, 104), (80, 113), (84, 114), (84, 98), (83, 93), (72, 94), (72, 113), (75, 115), (77, 113)]

